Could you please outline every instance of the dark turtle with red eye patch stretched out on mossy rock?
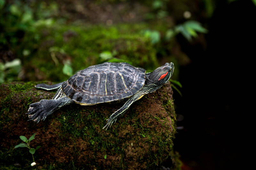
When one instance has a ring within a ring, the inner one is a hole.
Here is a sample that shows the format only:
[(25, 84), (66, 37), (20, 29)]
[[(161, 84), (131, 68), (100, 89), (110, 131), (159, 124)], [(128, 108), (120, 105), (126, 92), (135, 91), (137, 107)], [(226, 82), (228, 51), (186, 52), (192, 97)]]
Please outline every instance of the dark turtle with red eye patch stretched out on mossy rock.
[(28, 121), (44, 121), (48, 115), (71, 103), (95, 105), (127, 100), (107, 119), (108, 122), (103, 127), (107, 130), (117, 118), (124, 115), (133, 102), (167, 83), (173, 70), (173, 63), (165, 63), (153, 72), (146, 73), (145, 69), (136, 68), (129, 63), (107, 62), (80, 70), (67, 81), (58, 84), (37, 84), (36, 88), (58, 90), (51, 100), (43, 99), (29, 105), (26, 113)]

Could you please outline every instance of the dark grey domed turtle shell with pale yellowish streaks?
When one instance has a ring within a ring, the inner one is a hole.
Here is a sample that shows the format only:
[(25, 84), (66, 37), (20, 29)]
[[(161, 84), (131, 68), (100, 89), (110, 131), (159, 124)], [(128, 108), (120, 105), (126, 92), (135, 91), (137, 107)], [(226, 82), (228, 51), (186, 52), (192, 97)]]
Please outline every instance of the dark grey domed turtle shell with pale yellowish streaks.
[(102, 63), (78, 71), (61, 88), (68, 98), (81, 105), (122, 100), (143, 87), (145, 72), (128, 63)]

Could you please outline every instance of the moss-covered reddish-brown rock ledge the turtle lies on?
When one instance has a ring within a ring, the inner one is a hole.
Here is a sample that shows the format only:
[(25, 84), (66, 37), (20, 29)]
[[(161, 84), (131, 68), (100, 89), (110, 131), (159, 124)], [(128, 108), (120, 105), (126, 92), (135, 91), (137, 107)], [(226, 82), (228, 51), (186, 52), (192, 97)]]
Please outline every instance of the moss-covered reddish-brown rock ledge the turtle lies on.
[(180, 168), (172, 151), (176, 119), (170, 83), (135, 102), (107, 131), (106, 119), (123, 103), (72, 104), (44, 122), (27, 121), (29, 104), (55, 93), (36, 89), (37, 83), (42, 82), (0, 86), (1, 167), (31, 169), (28, 149), (14, 146), (21, 143), (19, 136), (36, 133), (30, 145), (42, 146), (34, 154), (39, 169), (152, 169), (169, 156), (174, 169)]

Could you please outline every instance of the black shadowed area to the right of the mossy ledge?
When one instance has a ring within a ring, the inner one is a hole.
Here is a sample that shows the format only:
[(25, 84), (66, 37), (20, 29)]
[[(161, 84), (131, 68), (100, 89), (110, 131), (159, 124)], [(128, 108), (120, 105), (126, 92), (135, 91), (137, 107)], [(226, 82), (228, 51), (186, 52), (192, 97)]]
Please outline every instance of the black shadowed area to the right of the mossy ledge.
[(178, 122), (184, 129), (175, 139), (184, 169), (243, 167), (242, 124), (248, 113), (242, 109), (242, 96), (249, 91), (243, 81), (245, 67), (255, 56), (255, 16), (251, 1), (219, 1), (207, 21), (206, 50), (179, 38), (182, 50), (192, 60), (180, 68), (183, 97), (174, 95), (176, 111), (184, 116)]

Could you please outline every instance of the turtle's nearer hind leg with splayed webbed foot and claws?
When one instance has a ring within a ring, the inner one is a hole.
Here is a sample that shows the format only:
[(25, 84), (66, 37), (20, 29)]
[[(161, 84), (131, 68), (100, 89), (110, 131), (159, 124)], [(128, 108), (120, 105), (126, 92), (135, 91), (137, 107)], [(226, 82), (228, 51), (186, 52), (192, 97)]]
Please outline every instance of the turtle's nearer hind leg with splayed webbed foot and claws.
[(43, 99), (39, 102), (32, 103), (29, 105), (28, 118), (29, 121), (39, 122), (45, 120), (48, 115), (51, 115), (55, 110), (62, 106), (73, 103), (74, 101), (68, 97), (62, 97), (54, 100)]

